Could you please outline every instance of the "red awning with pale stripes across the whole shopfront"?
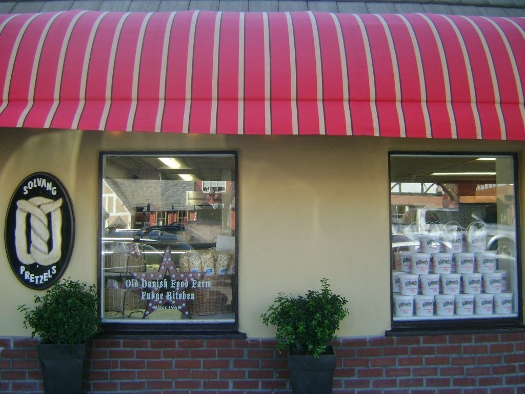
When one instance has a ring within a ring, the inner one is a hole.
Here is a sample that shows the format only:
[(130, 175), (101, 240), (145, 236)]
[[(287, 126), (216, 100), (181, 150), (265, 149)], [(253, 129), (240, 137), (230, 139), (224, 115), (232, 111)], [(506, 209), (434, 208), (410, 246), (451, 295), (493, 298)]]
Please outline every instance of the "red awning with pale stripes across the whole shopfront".
[(0, 15), (0, 127), (525, 140), (525, 18)]

